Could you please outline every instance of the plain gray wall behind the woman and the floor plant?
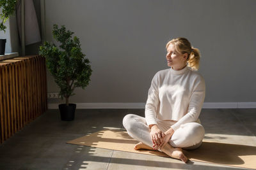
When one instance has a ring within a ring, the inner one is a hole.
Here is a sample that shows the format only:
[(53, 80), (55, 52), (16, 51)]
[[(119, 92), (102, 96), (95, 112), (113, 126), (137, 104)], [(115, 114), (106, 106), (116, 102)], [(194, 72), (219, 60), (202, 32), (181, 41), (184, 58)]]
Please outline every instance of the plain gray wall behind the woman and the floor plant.
[[(45, 1), (46, 37), (66, 25), (92, 62), (92, 81), (74, 103), (145, 103), (150, 81), (166, 69), (168, 40), (199, 48), (205, 102), (256, 102), (256, 1)], [(58, 87), (47, 73), (48, 92)], [(50, 103), (60, 103), (51, 100)]]

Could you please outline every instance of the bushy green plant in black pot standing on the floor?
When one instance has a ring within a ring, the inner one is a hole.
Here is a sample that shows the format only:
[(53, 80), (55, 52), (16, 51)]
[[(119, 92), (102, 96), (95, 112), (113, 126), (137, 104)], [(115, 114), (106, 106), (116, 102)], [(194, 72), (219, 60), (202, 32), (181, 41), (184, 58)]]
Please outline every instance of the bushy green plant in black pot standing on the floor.
[(60, 87), (61, 99), (65, 97), (66, 103), (59, 104), (61, 120), (74, 120), (76, 104), (69, 103), (68, 97), (73, 96), (76, 87), (83, 89), (89, 84), (92, 69), (90, 61), (84, 58), (86, 55), (81, 52), (79, 38), (66, 31), (64, 25), (58, 28), (53, 25), (52, 34), (60, 46), (54, 43), (44, 42), (40, 46), (39, 54), (46, 59), (46, 66), (54, 77), (54, 81)]

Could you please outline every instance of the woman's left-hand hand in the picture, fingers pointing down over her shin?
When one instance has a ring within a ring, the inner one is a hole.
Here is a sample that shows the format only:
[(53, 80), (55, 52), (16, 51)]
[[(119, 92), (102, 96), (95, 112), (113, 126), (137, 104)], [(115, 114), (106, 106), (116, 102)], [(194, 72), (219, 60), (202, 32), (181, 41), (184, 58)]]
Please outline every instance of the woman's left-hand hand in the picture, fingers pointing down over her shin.
[(150, 129), (150, 136), (152, 142), (154, 143), (153, 148), (157, 149), (158, 146), (160, 146), (161, 143), (163, 142), (165, 134), (157, 127), (157, 125), (152, 125)]

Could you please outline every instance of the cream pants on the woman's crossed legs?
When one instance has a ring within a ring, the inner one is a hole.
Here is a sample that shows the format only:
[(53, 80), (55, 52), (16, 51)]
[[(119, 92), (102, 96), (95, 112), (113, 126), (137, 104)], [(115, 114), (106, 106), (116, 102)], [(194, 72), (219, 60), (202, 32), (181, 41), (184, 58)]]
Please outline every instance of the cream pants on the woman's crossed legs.
[[(170, 129), (174, 123), (170, 120), (157, 120), (157, 126), (162, 132)], [(153, 146), (152, 139), (150, 138), (150, 129), (145, 118), (129, 114), (124, 117), (123, 125), (129, 136), (145, 145)], [(204, 127), (196, 122), (190, 122), (180, 125), (168, 143), (175, 148), (195, 149), (202, 144), (203, 138)]]

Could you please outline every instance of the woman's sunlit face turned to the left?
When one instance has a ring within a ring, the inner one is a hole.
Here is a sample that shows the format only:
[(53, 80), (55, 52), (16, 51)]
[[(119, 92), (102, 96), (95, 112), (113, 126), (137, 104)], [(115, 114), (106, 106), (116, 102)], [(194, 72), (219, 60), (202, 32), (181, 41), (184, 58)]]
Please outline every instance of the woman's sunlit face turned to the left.
[(175, 50), (175, 46), (170, 44), (167, 48), (167, 65), (174, 70), (180, 70), (186, 66), (186, 53), (182, 54)]

